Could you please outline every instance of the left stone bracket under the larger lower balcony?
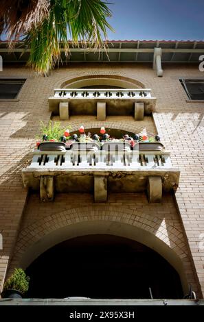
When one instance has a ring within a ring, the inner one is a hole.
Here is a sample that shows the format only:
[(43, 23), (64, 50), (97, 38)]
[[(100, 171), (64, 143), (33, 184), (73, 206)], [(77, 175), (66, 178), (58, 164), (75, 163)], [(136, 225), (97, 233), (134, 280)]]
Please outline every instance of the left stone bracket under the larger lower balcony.
[(40, 196), (41, 201), (54, 199), (54, 177), (52, 175), (41, 175)]

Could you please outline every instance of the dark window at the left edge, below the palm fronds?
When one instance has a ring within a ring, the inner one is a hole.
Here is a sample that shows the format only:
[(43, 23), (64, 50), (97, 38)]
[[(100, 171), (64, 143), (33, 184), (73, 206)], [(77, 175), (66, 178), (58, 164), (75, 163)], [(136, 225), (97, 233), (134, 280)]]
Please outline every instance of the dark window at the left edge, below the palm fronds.
[(0, 79), (0, 99), (16, 99), (25, 79)]

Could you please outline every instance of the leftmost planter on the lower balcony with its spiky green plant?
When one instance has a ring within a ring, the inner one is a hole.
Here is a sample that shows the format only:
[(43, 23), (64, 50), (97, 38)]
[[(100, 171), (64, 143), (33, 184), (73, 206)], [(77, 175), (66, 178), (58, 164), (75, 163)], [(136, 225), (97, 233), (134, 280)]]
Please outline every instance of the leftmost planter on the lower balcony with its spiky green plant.
[(69, 128), (63, 129), (60, 122), (49, 121), (46, 125), (41, 121), (41, 134), (36, 136), (36, 147), (40, 151), (65, 151), (69, 138)]

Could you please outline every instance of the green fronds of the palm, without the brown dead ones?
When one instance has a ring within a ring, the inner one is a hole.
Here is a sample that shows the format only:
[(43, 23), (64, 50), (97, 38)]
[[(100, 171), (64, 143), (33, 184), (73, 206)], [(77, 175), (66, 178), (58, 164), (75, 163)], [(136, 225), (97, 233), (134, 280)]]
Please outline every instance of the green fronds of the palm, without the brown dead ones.
[(49, 14), (25, 36), (25, 44), (31, 49), (27, 64), (47, 75), (60, 62), (62, 49), (69, 58), (70, 45), (106, 48), (106, 29), (113, 30), (106, 21), (111, 16), (108, 4), (101, 0), (50, 1)]

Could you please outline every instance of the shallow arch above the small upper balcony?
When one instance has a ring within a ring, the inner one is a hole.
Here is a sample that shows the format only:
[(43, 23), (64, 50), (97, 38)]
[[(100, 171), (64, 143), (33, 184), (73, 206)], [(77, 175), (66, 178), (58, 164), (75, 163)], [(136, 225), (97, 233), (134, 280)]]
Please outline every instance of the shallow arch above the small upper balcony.
[(56, 84), (56, 88), (78, 88), (86, 85), (104, 84), (112, 86), (120, 86), (124, 88), (146, 88), (145, 84), (139, 79), (130, 78), (128, 76), (121, 76), (115, 72), (89, 72), (87, 71), (78, 74), (75, 77), (63, 77)]

